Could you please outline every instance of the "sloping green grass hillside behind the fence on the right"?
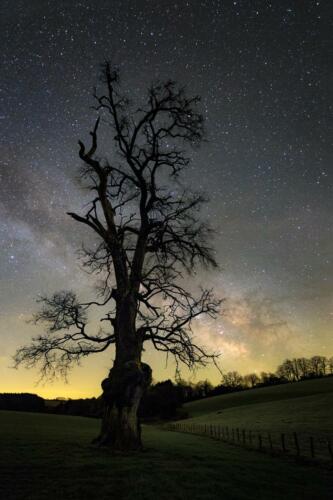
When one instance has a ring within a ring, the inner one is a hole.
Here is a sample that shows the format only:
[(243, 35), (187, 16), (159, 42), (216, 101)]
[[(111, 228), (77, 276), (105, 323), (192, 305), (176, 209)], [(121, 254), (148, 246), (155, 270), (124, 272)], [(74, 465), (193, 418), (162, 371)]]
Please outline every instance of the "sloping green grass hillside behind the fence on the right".
[(215, 396), (185, 405), (189, 423), (333, 437), (333, 377)]

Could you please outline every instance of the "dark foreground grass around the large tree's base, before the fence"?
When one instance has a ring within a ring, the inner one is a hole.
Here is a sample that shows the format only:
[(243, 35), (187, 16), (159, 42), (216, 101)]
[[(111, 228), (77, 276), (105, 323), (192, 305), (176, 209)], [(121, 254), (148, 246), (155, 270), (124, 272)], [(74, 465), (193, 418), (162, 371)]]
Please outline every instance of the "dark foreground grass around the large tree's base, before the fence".
[(207, 438), (144, 428), (145, 451), (89, 445), (99, 422), (0, 412), (0, 497), (29, 499), (332, 499), (332, 471)]

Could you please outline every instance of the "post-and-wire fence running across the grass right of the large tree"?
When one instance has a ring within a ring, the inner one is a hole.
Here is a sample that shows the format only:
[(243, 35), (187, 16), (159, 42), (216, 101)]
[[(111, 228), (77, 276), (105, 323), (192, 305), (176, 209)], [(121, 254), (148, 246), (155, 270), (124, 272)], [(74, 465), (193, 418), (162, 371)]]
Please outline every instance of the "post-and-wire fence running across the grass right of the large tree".
[(219, 441), (271, 454), (333, 462), (332, 440), (327, 436), (306, 433), (254, 431), (212, 424), (170, 423), (167, 430), (207, 436)]

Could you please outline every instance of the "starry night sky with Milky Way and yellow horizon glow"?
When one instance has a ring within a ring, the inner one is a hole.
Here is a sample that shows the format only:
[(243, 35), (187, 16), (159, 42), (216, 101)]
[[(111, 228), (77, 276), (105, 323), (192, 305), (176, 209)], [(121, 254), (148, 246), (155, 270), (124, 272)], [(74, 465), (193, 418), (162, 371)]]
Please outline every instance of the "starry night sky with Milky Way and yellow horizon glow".
[[(111, 353), (70, 385), (37, 388), (9, 368), (36, 327), (41, 292), (83, 295), (75, 249), (84, 228), (77, 140), (94, 122), (99, 64), (120, 67), (133, 100), (156, 79), (202, 97), (207, 139), (188, 182), (210, 197), (221, 271), (203, 284), (226, 297), (195, 330), (223, 369), (275, 369), (286, 356), (333, 355), (330, 1), (2, 0), (0, 85), (1, 391), (99, 393)], [(146, 352), (155, 379), (173, 374)], [(219, 375), (200, 371), (196, 380)]]

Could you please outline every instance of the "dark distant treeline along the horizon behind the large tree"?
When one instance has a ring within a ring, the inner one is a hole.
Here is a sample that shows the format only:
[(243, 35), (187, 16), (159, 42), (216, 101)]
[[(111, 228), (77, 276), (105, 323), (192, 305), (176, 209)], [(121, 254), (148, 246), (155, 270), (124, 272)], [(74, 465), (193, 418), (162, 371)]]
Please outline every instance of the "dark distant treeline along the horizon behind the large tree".
[[(241, 375), (230, 371), (222, 375), (221, 384), (213, 386), (208, 380), (196, 384), (171, 380), (153, 384), (143, 397), (139, 415), (144, 421), (186, 418), (183, 403), (219, 394), (244, 391), (255, 387), (299, 382), (312, 378), (333, 375), (333, 357), (286, 359), (276, 372), (249, 373)], [(101, 398), (69, 399), (53, 401), (50, 405), (35, 394), (0, 394), (0, 410), (21, 410), (78, 415), (99, 418), (103, 412)]]

